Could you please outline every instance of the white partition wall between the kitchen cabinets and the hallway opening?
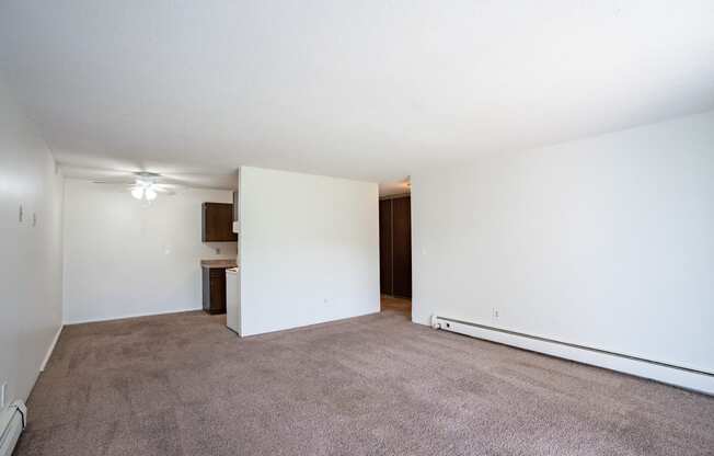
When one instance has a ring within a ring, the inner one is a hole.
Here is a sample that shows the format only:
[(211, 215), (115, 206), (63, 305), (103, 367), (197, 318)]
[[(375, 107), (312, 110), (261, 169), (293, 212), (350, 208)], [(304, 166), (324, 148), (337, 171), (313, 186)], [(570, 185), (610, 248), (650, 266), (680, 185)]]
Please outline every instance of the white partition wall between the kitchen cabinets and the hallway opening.
[(242, 335), (379, 311), (377, 184), (240, 171)]

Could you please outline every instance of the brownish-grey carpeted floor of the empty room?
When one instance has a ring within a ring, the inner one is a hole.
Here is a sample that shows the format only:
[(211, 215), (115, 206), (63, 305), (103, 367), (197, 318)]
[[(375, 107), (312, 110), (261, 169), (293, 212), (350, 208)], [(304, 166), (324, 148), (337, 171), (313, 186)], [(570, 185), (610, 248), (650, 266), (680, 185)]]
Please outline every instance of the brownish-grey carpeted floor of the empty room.
[(380, 315), (65, 328), (16, 455), (714, 455), (714, 398)]

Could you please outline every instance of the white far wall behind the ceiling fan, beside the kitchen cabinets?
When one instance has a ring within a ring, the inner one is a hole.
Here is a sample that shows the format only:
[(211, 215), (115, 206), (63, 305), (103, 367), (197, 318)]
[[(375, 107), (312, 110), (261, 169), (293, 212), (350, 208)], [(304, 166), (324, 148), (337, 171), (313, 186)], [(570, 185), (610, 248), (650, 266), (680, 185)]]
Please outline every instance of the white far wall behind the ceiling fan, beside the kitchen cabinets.
[(200, 260), (237, 255), (237, 242), (200, 241), (204, 202), (231, 192), (185, 189), (145, 207), (122, 186), (68, 179), (65, 322), (201, 308)]

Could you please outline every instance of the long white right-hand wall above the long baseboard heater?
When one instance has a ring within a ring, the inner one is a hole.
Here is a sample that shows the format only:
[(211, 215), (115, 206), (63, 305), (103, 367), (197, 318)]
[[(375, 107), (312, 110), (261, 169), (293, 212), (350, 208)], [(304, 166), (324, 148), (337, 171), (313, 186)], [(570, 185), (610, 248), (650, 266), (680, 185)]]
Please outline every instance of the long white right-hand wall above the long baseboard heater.
[(414, 321), (714, 372), (714, 112), (412, 182)]

